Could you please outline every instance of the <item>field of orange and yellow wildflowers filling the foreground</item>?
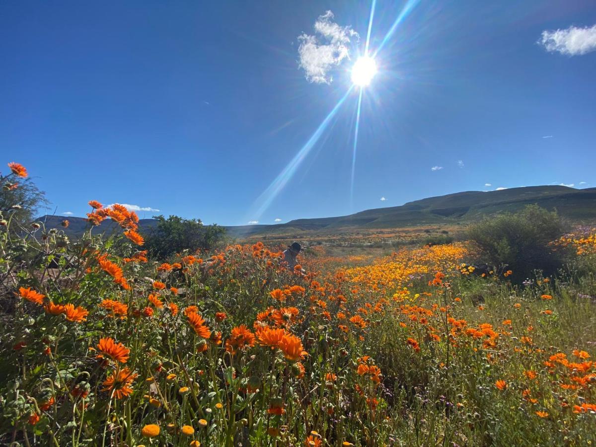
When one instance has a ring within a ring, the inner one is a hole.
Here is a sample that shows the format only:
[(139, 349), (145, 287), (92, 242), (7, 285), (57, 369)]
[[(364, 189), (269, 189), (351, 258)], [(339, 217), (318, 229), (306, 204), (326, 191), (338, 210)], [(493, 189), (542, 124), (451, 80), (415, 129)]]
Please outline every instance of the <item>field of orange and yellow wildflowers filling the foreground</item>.
[[(134, 212), (89, 205), (77, 241), (0, 216), (3, 445), (596, 442), (594, 232), (516, 286), (474, 275), (465, 243), (153, 262)], [(104, 219), (122, 234), (94, 234)]]

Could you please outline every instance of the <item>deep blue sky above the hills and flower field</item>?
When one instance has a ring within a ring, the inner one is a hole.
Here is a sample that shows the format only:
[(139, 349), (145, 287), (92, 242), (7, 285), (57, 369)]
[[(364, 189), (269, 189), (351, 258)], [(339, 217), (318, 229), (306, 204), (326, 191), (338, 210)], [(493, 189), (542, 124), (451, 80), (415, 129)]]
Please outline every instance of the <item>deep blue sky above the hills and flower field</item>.
[[(352, 85), (370, 10), (3, 2), (2, 158), (27, 167), (57, 214), (82, 216), (94, 199), (223, 225), (466, 190), (596, 187), (591, 0), (378, 0), (370, 54), (384, 43), (362, 91), (352, 185), (359, 88), (329, 114)], [(347, 54), (324, 60), (325, 49)]]

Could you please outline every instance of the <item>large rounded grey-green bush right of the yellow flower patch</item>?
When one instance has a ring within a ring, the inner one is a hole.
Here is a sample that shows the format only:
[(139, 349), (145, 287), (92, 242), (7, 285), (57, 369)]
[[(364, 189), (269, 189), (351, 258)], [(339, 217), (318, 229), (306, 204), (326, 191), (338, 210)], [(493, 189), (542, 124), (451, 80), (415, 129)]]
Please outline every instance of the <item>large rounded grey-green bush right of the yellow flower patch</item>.
[(468, 237), (482, 252), (483, 260), (495, 266), (507, 265), (511, 279), (521, 281), (535, 270), (551, 275), (563, 262), (552, 241), (563, 234), (563, 223), (557, 212), (537, 205), (526, 206), (517, 213), (486, 218), (468, 230)]

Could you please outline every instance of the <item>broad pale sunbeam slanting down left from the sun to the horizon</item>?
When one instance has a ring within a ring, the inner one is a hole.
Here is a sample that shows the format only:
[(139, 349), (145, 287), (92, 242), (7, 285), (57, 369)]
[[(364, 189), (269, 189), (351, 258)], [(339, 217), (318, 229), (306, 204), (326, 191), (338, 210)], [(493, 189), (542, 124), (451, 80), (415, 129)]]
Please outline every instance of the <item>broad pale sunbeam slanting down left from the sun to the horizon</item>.
[(254, 202), (255, 204), (259, 204), (257, 211), (253, 216), (254, 219), (260, 218), (263, 215), (266, 209), (268, 209), (271, 202), (274, 200), (275, 197), (280, 193), (281, 190), (285, 187), (288, 181), (294, 176), (296, 169), (300, 166), (300, 164), (304, 161), (306, 156), (308, 156), (309, 152), (315, 146), (316, 142), (319, 141), (321, 135), (327, 129), (327, 126), (331, 122), (331, 119), (337, 114), (337, 111), (340, 109), (350, 92), (352, 92), (353, 86), (351, 86), (346, 94), (337, 102), (335, 107), (327, 114), (325, 119), (321, 122), (316, 131), (312, 134), (311, 138), (305, 143), (305, 145), (300, 148), (298, 153), (294, 156), (293, 159), (290, 160), (290, 163), (284, 167), (284, 169), (279, 173), (279, 175), (271, 182), (271, 184), (263, 191), (262, 194), (257, 197), (257, 200)]

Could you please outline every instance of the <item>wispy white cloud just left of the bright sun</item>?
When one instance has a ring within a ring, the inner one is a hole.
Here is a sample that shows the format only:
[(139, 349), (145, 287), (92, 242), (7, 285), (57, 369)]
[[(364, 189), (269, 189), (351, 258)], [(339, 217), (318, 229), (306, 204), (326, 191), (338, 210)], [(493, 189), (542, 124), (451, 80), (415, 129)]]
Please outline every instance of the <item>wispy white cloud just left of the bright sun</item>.
[[(315, 22), (315, 35), (303, 33), (298, 36), (300, 68), (305, 71), (308, 82), (329, 84), (333, 81), (330, 70), (350, 58), (350, 38), (359, 39), (350, 26), (339, 26), (327, 11)], [(316, 36), (319, 35), (319, 38)]]

